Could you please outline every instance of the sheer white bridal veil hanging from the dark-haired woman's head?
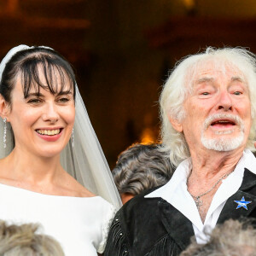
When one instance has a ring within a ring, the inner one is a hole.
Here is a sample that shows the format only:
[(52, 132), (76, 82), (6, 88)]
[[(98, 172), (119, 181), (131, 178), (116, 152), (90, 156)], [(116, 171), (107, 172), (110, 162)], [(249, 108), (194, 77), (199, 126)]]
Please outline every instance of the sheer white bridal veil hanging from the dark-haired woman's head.
[[(19, 45), (9, 50), (0, 64), (0, 81), (2, 80), (3, 69), (10, 58), (18, 51), (30, 48), (27, 45)], [(3, 119), (0, 118), (0, 158), (7, 156), (14, 148), (14, 137), (9, 123), (7, 126), (6, 148), (3, 148), (3, 127)], [(113, 206), (119, 208), (121, 206), (119, 193), (113, 183), (113, 177), (102, 152), (102, 147), (90, 124), (78, 86), (76, 86), (76, 117), (73, 130), (74, 146), (69, 141), (67, 147), (62, 150), (61, 165), (86, 189), (89, 189), (95, 195), (102, 196)]]

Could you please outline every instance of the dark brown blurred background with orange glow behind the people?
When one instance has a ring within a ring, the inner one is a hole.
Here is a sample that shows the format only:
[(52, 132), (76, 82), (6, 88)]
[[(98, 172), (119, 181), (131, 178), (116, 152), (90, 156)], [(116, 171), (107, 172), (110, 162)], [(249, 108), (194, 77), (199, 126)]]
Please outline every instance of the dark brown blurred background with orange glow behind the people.
[(131, 143), (158, 139), (177, 60), (210, 45), (256, 53), (255, 27), (254, 0), (0, 0), (0, 57), (17, 44), (64, 55), (113, 167)]

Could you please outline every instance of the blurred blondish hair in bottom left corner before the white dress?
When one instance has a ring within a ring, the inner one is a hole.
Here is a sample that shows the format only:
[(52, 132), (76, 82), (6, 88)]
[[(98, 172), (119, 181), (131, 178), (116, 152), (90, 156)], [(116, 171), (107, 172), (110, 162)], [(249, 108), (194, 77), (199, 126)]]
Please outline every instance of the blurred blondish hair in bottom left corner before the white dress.
[(6, 224), (0, 221), (0, 255), (64, 256), (51, 236), (38, 234), (39, 224)]

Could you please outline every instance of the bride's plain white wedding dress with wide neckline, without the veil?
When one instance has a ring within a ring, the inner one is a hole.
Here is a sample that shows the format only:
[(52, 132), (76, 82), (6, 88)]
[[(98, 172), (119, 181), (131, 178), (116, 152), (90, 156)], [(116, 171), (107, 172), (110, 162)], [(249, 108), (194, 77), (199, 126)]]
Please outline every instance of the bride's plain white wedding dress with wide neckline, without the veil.
[(0, 183), (0, 219), (41, 224), (44, 234), (61, 243), (66, 256), (102, 253), (114, 212), (100, 196), (44, 195)]

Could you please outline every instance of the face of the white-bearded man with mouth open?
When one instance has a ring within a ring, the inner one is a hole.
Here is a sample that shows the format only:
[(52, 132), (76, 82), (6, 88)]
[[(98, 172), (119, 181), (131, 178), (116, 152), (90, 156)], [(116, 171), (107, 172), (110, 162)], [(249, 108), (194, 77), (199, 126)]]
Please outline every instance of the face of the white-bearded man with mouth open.
[(245, 148), (252, 125), (251, 104), (247, 83), (236, 67), (199, 68), (183, 108), (181, 129), (190, 152)]

